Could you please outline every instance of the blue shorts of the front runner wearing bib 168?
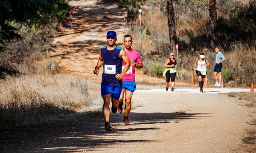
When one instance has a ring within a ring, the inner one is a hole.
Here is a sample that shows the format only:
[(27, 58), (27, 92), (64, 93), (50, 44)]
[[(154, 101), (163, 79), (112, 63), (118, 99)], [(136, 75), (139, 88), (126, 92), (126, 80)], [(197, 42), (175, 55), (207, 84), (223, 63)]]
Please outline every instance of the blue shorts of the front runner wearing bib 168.
[(107, 95), (107, 94), (112, 94), (113, 99), (118, 100), (120, 95), (121, 95), (122, 87), (118, 87), (115, 85), (108, 85), (105, 83), (101, 84), (100, 92), (101, 95)]

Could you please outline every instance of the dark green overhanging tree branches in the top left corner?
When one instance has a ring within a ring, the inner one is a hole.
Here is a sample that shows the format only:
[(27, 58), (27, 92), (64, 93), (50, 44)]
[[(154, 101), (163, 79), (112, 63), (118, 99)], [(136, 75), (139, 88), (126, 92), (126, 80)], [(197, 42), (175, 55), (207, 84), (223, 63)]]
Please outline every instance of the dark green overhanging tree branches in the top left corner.
[(64, 17), (66, 0), (0, 0), (0, 51), (6, 43), (22, 39), (12, 22), (38, 28), (50, 23), (50, 17)]

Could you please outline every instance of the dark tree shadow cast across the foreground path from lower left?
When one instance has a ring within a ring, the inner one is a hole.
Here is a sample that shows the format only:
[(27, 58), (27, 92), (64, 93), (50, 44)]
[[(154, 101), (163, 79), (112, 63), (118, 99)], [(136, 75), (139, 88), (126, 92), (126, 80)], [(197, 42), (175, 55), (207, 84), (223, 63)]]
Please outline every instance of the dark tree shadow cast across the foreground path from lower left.
[[(85, 119), (83, 116), (52, 125), (20, 127), (0, 132), (0, 148), (4, 153), (12, 152), (69, 152), (93, 151), (111, 148), (111, 144), (149, 143), (152, 139), (120, 139), (134, 131), (160, 130), (155, 124), (166, 124), (172, 120), (204, 119), (207, 113), (131, 113), (131, 125), (122, 126), (123, 114), (111, 115), (112, 132), (104, 130), (103, 119)], [(71, 122), (72, 121), (72, 122)], [(147, 127), (140, 125), (146, 124)], [(110, 139), (116, 136), (117, 139)]]

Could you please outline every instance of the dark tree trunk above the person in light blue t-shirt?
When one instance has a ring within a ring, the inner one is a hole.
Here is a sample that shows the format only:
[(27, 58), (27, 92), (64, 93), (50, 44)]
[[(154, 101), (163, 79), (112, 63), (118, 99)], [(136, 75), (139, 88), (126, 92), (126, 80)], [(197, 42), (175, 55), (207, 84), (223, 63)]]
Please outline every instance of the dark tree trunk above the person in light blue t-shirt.
[(217, 0), (209, 0), (209, 39), (210, 47), (215, 48), (216, 37), (216, 21), (217, 21)]

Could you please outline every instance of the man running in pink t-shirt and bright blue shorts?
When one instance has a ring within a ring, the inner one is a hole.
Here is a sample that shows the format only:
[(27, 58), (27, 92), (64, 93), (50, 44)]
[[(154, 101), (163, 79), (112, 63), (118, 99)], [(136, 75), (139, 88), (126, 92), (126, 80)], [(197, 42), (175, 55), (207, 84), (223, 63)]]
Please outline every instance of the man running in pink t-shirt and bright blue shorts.
[[(122, 92), (121, 96), (119, 98), (119, 106), (118, 106), (118, 112), (122, 113), (123, 111), (123, 100), (125, 95), (125, 114), (124, 114), (124, 124), (130, 125), (128, 116), (131, 111), (131, 98), (133, 95), (133, 92), (136, 90), (136, 84), (135, 84), (135, 68), (143, 68), (142, 59), (140, 57), (140, 53), (135, 51), (133, 48), (131, 48), (132, 45), (132, 37), (131, 35), (127, 34), (124, 36), (124, 51), (126, 52), (127, 56), (130, 59), (130, 68), (122, 78)], [(124, 68), (126, 63), (122, 63), (122, 67)]]

